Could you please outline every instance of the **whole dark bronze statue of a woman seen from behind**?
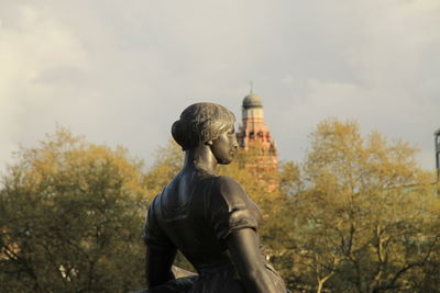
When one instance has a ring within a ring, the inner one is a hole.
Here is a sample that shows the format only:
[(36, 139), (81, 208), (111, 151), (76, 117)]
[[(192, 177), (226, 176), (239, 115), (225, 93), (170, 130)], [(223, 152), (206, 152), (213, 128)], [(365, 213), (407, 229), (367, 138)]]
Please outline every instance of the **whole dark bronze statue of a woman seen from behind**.
[[(262, 214), (218, 164), (234, 158), (235, 117), (213, 103), (197, 103), (173, 124), (185, 164), (150, 205), (144, 239), (148, 292), (285, 293), (283, 280), (260, 251)], [(174, 279), (176, 251), (198, 275)]]

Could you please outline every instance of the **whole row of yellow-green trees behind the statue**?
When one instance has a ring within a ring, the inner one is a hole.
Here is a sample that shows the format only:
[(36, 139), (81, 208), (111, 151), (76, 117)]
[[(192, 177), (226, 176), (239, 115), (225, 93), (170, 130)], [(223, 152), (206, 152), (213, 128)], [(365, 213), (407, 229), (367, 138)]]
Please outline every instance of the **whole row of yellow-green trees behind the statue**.
[[(263, 211), (264, 253), (293, 292), (438, 292), (440, 200), (417, 149), (327, 120), (302, 164), (252, 169), (240, 150), (219, 174)], [(144, 286), (144, 212), (179, 171), (172, 140), (153, 166), (59, 129), (21, 149), (0, 185), (6, 292), (128, 292)], [(246, 167), (248, 166), (248, 167)], [(267, 188), (275, 185), (276, 188)], [(178, 256), (178, 266), (191, 269)]]

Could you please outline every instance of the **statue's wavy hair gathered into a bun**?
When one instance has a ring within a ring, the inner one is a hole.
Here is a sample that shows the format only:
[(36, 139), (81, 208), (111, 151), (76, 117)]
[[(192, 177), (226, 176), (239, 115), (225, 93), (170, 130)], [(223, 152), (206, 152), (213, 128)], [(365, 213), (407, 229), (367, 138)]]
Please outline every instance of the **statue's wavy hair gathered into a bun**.
[(215, 103), (196, 103), (184, 110), (172, 126), (172, 134), (184, 150), (217, 139), (233, 128), (234, 114)]

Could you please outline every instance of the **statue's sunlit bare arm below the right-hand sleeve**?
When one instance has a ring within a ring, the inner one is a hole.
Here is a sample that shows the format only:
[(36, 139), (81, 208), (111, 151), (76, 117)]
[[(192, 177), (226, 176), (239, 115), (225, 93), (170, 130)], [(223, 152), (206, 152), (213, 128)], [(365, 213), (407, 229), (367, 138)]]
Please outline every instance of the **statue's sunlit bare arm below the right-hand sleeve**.
[(227, 245), (248, 292), (277, 292), (268, 271), (264, 267), (257, 245), (257, 235), (252, 228), (232, 232), (227, 238)]

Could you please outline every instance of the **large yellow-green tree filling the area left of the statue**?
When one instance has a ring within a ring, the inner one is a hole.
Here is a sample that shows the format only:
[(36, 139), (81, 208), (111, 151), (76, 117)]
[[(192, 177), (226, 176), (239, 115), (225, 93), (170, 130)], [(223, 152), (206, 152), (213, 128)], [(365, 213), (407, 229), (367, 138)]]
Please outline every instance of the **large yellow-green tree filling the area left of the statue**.
[(144, 288), (142, 164), (58, 128), (20, 149), (0, 188), (4, 292)]

